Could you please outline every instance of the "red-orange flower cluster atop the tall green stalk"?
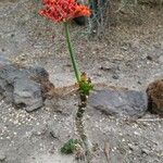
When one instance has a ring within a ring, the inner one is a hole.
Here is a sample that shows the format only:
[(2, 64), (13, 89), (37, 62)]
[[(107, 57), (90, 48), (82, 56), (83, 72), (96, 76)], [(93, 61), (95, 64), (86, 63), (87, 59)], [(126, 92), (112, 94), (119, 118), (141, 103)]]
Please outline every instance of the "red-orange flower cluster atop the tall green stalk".
[(75, 0), (42, 0), (45, 9), (39, 14), (54, 22), (65, 22), (78, 16), (90, 16), (90, 10)]

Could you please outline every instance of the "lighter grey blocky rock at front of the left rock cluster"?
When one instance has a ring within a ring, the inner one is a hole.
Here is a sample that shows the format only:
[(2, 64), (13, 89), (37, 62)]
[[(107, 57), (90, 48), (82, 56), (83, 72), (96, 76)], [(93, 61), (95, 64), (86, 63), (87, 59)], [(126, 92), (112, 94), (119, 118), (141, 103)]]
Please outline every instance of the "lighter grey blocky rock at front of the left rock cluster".
[(18, 79), (14, 84), (13, 99), (16, 105), (25, 106), (27, 112), (42, 106), (40, 85), (29, 79)]

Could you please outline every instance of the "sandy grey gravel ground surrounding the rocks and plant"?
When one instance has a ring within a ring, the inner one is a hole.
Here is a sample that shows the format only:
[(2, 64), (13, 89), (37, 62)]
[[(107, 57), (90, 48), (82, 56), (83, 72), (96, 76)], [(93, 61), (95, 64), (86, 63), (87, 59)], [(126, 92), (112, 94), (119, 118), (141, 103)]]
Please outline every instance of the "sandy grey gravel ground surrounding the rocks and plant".
[[(22, 65), (41, 65), (57, 87), (74, 84), (68, 51), (61, 24), (40, 17), (37, 0), (0, 0), (0, 53)], [(140, 12), (141, 11), (141, 12)], [(72, 39), (80, 68), (93, 83), (145, 91), (148, 84), (163, 78), (163, 8), (148, 7), (117, 14), (104, 38), (89, 38), (85, 27), (72, 23)], [(73, 163), (60, 147), (75, 131), (76, 96), (59, 98), (40, 110), (26, 113), (4, 101), (0, 103), (0, 162)], [(98, 149), (93, 163), (162, 163), (163, 122), (147, 113), (136, 121), (115, 118), (88, 110), (85, 127)], [(51, 136), (51, 130), (54, 136)]]

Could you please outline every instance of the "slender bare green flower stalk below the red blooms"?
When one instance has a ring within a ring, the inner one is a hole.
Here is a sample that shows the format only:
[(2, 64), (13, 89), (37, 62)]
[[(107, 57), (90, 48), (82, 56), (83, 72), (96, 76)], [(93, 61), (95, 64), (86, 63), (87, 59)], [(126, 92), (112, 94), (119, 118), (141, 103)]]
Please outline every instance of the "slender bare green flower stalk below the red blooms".
[(75, 53), (73, 51), (73, 47), (72, 47), (72, 42), (71, 42), (71, 37), (70, 37), (70, 28), (68, 28), (68, 22), (64, 22), (64, 28), (65, 28), (65, 36), (66, 36), (66, 41), (67, 41), (67, 47), (68, 47), (68, 51), (71, 54), (71, 60), (72, 60), (72, 64), (73, 64), (73, 68), (75, 72), (75, 76), (76, 76), (76, 80), (77, 83), (80, 82), (80, 73), (76, 63), (76, 59), (75, 59)]

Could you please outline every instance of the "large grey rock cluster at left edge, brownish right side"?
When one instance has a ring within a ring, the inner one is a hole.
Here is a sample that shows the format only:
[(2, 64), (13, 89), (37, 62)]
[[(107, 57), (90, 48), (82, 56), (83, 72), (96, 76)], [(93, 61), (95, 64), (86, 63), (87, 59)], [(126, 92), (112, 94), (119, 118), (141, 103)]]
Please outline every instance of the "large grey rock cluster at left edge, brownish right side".
[(0, 55), (0, 93), (15, 105), (34, 111), (43, 104), (45, 93), (53, 85), (42, 67), (18, 68)]

